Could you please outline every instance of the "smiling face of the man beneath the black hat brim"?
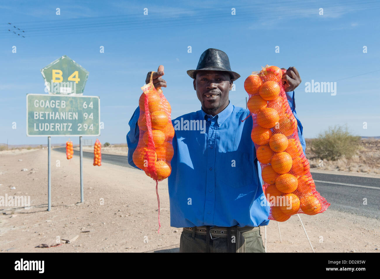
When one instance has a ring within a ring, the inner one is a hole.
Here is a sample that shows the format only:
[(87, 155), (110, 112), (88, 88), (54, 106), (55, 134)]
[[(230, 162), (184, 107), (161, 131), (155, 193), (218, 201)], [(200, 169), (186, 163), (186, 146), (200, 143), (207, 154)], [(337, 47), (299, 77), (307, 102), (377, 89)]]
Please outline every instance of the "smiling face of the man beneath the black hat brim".
[(232, 81), (227, 72), (198, 71), (193, 84), (207, 114), (215, 116), (228, 106), (228, 93), (232, 89)]

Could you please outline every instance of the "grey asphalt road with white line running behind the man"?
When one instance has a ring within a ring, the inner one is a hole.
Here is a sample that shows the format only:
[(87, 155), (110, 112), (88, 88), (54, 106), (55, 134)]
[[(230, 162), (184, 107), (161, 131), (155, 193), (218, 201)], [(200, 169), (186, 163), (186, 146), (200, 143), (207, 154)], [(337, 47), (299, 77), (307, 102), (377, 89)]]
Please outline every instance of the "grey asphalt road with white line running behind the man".
[[(65, 147), (54, 150), (66, 153)], [(79, 151), (74, 150), (75, 156)], [(93, 158), (92, 152), (83, 152), (83, 157)], [(123, 167), (131, 167), (127, 156), (102, 154), (101, 161)], [(318, 192), (331, 203), (329, 209), (380, 219), (380, 178), (355, 177), (326, 173), (312, 173)], [(367, 205), (363, 205), (363, 199)]]

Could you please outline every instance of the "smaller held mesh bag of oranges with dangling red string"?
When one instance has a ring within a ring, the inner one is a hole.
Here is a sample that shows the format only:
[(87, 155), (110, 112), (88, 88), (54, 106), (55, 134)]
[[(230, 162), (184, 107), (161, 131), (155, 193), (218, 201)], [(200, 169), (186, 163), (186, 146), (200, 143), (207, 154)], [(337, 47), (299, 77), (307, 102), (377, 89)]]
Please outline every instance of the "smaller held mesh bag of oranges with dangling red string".
[[(140, 116), (138, 120), (139, 141), (133, 162), (144, 170), (146, 175), (156, 181), (158, 201), (158, 224), (160, 225), (160, 199), (158, 197), (158, 181), (169, 177), (171, 173), (170, 161), (173, 158), (174, 127), (171, 123), (171, 107), (161, 88), (154, 87), (152, 76), (149, 84), (141, 87), (139, 99)], [(160, 232), (160, 229), (158, 229)]]

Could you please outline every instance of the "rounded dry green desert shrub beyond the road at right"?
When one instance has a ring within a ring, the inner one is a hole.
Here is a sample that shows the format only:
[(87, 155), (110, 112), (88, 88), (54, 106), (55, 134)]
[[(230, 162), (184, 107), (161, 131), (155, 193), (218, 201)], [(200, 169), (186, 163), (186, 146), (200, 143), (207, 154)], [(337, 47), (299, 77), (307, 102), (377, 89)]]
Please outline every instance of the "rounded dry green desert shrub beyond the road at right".
[(353, 136), (347, 126), (336, 125), (313, 139), (310, 148), (318, 158), (336, 161), (345, 156), (351, 158), (359, 148), (360, 136)]

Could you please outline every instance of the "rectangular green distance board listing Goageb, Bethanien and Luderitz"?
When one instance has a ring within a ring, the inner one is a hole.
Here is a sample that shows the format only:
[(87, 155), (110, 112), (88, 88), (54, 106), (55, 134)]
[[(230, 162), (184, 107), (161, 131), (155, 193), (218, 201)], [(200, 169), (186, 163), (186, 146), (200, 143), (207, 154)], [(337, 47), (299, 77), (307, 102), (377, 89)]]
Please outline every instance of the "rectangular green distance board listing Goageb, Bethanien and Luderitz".
[(26, 95), (28, 137), (100, 136), (98, 96)]

